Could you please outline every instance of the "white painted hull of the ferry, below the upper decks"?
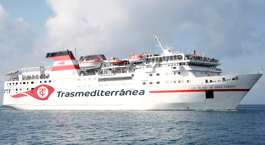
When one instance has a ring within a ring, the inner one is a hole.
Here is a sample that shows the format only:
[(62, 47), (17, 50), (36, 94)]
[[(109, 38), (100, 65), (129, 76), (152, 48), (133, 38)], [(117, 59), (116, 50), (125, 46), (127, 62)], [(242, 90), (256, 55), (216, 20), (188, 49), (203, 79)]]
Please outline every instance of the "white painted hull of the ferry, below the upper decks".
[[(141, 72), (139, 73), (141, 74)], [(130, 75), (131, 73), (126, 74)], [(36, 100), (31, 96), (13, 98), (10, 96), (13, 94), (4, 94), (3, 104), (13, 109), (26, 110), (230, 110), (237, 106), (262, 75), (236, 75), (239, 80), (232, 80), (233, 77), (236, 77), (235, 75), (232, 75), (226, 76), (227, 79), (231, 78), (229, 81), (219, 81), (207, 84), (202, 84), (205, 80), (205, 78), (202, 77), (192, 79), (191, 82), (193, 83), (189, 84), (179, 85), (179, 83), (169, 83), (161, 87), (159, 84), (148, 84), (149, 86), (142, 85), (142, 81), (138, 80), (140, 78), (139, 76), (137, 77), (137, 72), (135, 71), (133, 74), (135, 76), (134, 80), (116, 81), (115, 84), (121, 83), (124, 84), (124, 86), (115, 87), (110, 86), (113, 82), (105, 81), (98, 83), (98, 77), (102, 77), (100, 75), (81, 76), (81, 80), (84, 81), (78, 81), (77, 78), (64, 80), (58, 79), (56, 80), (56, 83), (47, 83), (47, 85), (55, 89), (55, 91), (49, 96), (48, 100)], [(89, 77), (96, 77), (96, 79), (92, 79), (91, 82), (88, 82), (87, 78)], [(207, 77), (207, 79), (209, 79), (209, 77)], [(212, 77), (211, 79), (222, 80), (222, 76)], [(88, 83), (95, 85), (85, 87), (85, 84)], [(98, 85), (102, 87), (99, 87)], [(36, 84), (31, 85), (30, 88), (36, 86)], [(78, 88), (78, 86), (80, 86), (80, 88)], [(137, 90), (138, 93), (135, 93), (136, 95), (129, 95), (128, 92), (127, 95), (120, 95), (119, 93), (123, 89), (124, 91)], [(144, 94), (139, 95), (140, 90), (144, 90)], [(205, 90), (213, 90), (214, 98), (206, 99)], [(106, 91), (115, 92), (113, 92), (112, 95), (109, 94), (109, 96), (106, 96)], [(115, 95), (116, 91), (119, 92)], [(66, 97), (65, 94), (67, 92), (74, 92), (74, 97)], [(76, 95), (76, 92), (83, 93), (79, 96), (79, 94)], [(95, 93), (93, 93), (92, 96), (85, 96), (85, 92), (90, 92), (90, 94), (92, 92)]]

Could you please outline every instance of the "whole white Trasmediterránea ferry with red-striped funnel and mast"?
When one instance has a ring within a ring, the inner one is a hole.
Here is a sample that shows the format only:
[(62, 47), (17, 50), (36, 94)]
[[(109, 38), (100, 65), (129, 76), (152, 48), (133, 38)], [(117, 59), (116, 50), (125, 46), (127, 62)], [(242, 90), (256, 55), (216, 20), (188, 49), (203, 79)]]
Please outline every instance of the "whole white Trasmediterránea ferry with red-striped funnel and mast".
[(130, 55), (122, 64), (71, 51), (47, 53), (52, 66), (5, 74), (3, 105), (25, 110), (233, 110), (262, 76), (222, 75), (218, 59), (171, 52)]

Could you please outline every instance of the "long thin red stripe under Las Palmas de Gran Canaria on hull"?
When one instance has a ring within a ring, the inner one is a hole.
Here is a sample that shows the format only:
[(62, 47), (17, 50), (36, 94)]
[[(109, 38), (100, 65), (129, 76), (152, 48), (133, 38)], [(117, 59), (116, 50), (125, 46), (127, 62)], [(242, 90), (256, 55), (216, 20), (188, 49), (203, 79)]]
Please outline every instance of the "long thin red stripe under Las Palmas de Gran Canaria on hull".
[[(211, 90), (212, 91), (249, 91), (250, 89), (211, 89)], [(179, 93), (179, 92), (205, 92), (205, 91), (206, 90), (168, 90), (168, 91), (149, 91), (149, 93)]]

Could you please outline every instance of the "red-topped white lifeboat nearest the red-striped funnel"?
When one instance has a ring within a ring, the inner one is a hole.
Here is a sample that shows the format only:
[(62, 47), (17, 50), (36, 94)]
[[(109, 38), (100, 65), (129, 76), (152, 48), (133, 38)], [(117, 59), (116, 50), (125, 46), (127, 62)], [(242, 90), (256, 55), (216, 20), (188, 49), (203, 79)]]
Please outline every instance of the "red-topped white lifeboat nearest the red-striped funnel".
[(84, 69), (99, 68), (101, 64), (102, 61), (100, 59), (84, 59), (78, 63), (79, 67)]

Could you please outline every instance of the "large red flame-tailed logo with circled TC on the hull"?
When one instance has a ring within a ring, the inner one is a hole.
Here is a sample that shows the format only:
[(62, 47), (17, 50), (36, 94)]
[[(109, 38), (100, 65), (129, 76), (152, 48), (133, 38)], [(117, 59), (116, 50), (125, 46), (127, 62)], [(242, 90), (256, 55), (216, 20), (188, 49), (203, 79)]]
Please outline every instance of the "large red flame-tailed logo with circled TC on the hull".
[(48, 100), (48, 98), (53, 92), (54, 92), (53, 87), (49, 85), (39, 85), (39, 86), (36, 86), (33, 90), (19, 93), (13, 96), (10, 95), (10, 96), (13, 98), (20, 98), (20, 97), (28, 96), (28, 97), (33, 97), (38, 100)]

